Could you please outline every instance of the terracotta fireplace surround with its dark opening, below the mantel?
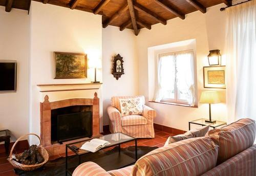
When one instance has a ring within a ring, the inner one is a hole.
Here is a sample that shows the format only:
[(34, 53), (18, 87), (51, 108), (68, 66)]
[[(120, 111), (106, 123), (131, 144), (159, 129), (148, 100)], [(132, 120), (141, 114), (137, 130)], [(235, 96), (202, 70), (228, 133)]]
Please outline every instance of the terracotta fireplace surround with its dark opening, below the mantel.
[(49, 102), (46, 95), (44, 102), (40, 103), (40, 137), (50, 156), (64, 153), (67, 143), (99, 135), (99, 98), (96, 92), (94, 98), (53, 102)]

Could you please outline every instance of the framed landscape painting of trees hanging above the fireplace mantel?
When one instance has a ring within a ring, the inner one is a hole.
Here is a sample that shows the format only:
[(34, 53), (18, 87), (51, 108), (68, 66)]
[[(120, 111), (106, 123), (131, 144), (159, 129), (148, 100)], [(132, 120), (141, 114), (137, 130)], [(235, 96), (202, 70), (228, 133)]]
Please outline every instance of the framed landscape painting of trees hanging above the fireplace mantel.
[(87, 55), (83, 53), (54, 52), (54, 79), (87, 77)]

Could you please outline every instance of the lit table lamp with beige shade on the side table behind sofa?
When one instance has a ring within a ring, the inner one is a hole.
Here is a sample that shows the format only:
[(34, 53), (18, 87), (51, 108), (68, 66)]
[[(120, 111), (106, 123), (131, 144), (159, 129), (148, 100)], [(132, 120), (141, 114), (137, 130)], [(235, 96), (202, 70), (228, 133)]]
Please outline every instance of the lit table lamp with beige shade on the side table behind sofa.
[(211, 120), (211, 111), (210, 105), (215, 103), (220, 103), (220, 97), (217, 91), (203, 91), (200, 97), (200, 103), (208, 103), (209, 104), (209, 120), (205, 120), (207, 123), (216, 123), (216, 120)]

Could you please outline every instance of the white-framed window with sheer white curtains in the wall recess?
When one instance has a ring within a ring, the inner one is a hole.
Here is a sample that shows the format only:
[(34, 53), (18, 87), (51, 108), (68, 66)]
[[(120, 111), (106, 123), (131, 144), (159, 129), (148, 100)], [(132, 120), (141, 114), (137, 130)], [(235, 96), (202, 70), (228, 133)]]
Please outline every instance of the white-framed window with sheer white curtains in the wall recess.
[(158, 55), (159, 101), (195, 104), (193, 50)]

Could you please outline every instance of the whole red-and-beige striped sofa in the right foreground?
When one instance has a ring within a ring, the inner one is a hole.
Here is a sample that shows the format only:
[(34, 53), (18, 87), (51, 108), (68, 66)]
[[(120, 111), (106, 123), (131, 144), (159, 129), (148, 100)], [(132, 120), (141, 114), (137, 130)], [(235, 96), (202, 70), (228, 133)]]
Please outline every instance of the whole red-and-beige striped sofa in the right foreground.
[(79, 165), (73, 176), (253, 176), (256, 175), (256, 125), (241, 119), (205, 137), (191, 138), (155, 149), (135, 165), (106, 172), (93, 162)]

